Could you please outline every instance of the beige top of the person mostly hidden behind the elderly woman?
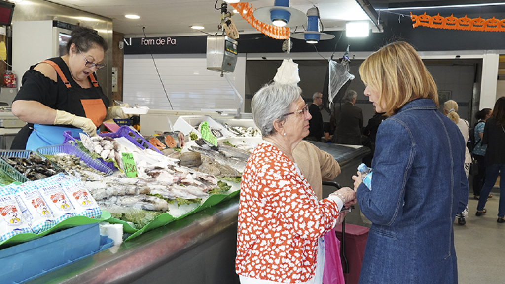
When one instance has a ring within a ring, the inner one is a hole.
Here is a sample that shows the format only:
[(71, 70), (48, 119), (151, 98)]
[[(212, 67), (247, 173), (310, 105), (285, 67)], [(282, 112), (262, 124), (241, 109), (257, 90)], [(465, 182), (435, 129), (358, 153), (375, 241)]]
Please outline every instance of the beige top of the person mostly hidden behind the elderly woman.
[(323, 180), (333, 180), (340, 174), (340, 165), (327, 152), (319, 150), (314, 144), (301, 140), (293, 151), (298, 168), (307, 179), (319, 200), (323, 196)]

